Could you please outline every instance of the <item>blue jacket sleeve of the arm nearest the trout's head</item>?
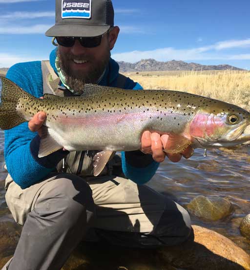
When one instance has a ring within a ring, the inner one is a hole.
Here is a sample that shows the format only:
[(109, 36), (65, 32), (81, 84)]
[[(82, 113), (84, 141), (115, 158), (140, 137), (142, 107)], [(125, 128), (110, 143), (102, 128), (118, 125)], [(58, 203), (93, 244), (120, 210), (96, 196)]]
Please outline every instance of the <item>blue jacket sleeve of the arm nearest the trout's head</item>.
[[(134, 83), (129, 78), (126, 81), (126, 89), (142, 90), (139, 83)], [(151, 155), (146, 155), (140, 150), (122, 152), (122, 167), (127, 178), (136, 184), (145, 184), (155, 174), (159, 163), (155, 162)]]

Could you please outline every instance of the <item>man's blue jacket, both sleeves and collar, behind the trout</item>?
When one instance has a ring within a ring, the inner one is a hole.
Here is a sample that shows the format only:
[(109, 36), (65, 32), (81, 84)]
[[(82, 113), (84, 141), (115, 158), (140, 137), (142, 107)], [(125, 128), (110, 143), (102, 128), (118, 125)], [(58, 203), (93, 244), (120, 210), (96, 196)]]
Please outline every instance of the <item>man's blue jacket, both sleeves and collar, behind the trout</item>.
[[(50, 54), (50, 64), (55, 67), (56, 49)], [(113, 59), (109, 61), (100, 85), (116, 86), (119, 65)], [(108, 76), (109, 74), (109, 76)], [(24, 62), (13, 65), (6, 75), (8, 79), (18, 84), (23, 90), (39, 98), (43, 96), (41, 61)], [(129, 78), (125, 82), (125, 89), (142, 89), (139, 83)], [(5, 130), (4, 156), (9, 174), (21, 187), (27, 188), (46, 178), (55, 170), (57, 163), (64, 157), (61, 150), (42, 159), (38, 158), (37, 132), (31, 132), (28, 123), (22, 123), (12, 129)], [(155, 174), (159, 163), (154, 162), (151, 155), (144, 155), (140, 151), (122, 152), (122, 166), (125, 176), (137, 184), (144, 184)]]

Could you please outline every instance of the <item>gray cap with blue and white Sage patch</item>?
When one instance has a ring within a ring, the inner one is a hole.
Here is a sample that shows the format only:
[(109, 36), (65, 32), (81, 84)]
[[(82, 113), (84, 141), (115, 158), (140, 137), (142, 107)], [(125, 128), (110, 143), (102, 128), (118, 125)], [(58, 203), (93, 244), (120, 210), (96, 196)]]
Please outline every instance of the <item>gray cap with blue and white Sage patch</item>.
[(48, 37), (96, 37), (114, 26), (111, 0), (56, 0), (56, 24)]

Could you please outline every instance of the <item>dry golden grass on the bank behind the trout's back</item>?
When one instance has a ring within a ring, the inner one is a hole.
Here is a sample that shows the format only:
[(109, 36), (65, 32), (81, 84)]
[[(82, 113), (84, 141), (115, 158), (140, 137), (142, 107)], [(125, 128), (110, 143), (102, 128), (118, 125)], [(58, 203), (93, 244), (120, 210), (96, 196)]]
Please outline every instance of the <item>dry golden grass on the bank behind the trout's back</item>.
[(169, 89), (189, 92), (250, 107), (248, 71), (161, 71), (126, 73), (145, 89)]

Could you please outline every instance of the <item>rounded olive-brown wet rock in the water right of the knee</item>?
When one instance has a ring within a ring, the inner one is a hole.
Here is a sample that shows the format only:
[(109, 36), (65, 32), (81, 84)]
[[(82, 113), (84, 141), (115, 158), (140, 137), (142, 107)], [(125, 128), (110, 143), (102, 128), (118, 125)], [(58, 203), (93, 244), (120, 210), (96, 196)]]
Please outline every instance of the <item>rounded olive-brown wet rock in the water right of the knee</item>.
[(216, 221), (228, 216), (233, 208), (227, 199), (208, 199), (207, 197), (200, 195), (195, 197), (187, 205), (187, 209), (197, 217)]

